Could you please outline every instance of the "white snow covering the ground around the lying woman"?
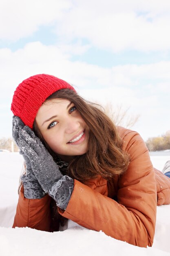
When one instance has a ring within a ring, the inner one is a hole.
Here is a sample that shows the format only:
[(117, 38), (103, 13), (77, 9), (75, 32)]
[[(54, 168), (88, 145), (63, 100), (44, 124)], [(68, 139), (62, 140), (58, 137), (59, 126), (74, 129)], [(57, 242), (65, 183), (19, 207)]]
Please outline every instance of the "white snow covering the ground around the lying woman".
[[(170, 155), (151, 156), (151, 160), (154, 167), (162, 170)], [(68, 229), (54, 233), (28, 227), (12, 229), (22, 164), (19, 153), (0, 152), (0, 255), (170, 256), (170, 205), (157, 207), (154, 243), (148, 248), (116, 240), (102, 231), (84, 229), (71, 221)]]

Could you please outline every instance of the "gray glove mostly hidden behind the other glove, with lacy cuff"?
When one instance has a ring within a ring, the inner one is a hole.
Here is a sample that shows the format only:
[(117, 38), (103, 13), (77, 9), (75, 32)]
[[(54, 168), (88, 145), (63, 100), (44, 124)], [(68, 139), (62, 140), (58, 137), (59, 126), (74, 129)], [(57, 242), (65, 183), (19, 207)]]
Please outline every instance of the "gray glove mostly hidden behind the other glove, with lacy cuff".
[[(19, 130), (22, 130), (24, 126), (24, 123), (19, 117), (13, 116), (13, 139), (15, 140), (19, 148)], [(20, 177), (24, 186), (24, 197), (28, 199), (40, 199), (44, 195), (46, 195), (46, 193), (42, 189), (40, 183), (38, 182), (37, 178), (35, 177), (32, 171), (29, 158), (24, 154), (21, 148), (20, 154), (24, 157), (26, 164), (26, 172), (22, 174), (22, 176)]]

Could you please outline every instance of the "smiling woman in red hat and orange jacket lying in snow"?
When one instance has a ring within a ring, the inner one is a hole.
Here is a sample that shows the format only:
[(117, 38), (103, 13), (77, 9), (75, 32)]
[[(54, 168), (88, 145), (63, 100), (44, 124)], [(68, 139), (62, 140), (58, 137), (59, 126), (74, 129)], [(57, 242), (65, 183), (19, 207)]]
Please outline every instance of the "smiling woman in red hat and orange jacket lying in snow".
[(157, 205), (170, 204), (170, 180), (153, 168), (137, 132), (116, 127), (70, 84), (46, 74), (18, 85), (11, 110), (25, 160), (13, 227), (57, 231), (63, 216), (152, 246)]

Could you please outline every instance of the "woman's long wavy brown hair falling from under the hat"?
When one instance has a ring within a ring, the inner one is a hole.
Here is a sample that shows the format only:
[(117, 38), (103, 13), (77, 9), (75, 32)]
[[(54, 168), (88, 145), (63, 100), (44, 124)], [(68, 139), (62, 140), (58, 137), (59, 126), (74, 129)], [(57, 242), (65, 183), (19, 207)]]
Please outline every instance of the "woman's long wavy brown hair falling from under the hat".
[[(67, 99), (74, 103), (90, 130), (87, 152), (71, 160), (68, 165), (68, 175), (85, 182), (97, 175), (110, 180), (114, 175), (124, 173), (129, 164), (129, 156), (122, 150), (122, 139), (110, 118), (97, 108), (96, 104), (84, 100), (73, 90), (58, 90), (46, 101), (56, 98)], [(55, 159), (56, 154), (42, 137), (35, 121), (33, 130)]]

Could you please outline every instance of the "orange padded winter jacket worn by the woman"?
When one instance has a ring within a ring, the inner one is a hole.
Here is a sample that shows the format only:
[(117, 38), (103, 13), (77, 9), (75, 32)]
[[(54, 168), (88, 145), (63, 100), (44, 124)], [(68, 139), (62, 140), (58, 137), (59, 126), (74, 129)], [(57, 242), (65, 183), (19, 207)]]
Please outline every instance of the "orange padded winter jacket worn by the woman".
[[(130, 155), (127, 171), (109, 182), (101, 176), (86, 184), (74, 180), (66, 210), (58, 211), (88, 229), (102, 230), (132, 245), (152, 246), (157, 205), (170, 204), (170, 178), (153, 168), (146, 144), (137, 132), (122, 127), (118, 132), (124, 141), (123, 150)], [(13, 227), (51, 231), (50, 202), (48, 194), (42, 199), (24, 198), (22, 186)]]

